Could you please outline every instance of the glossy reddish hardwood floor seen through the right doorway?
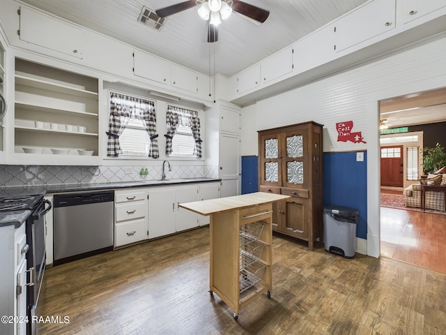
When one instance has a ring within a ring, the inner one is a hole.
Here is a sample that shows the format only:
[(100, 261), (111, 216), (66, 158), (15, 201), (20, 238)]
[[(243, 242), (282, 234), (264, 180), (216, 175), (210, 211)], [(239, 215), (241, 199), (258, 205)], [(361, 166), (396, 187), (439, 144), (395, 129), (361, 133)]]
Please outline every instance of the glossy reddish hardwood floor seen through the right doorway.
[(380, 210), (381, 255), (446, 274), (446, 215)]

